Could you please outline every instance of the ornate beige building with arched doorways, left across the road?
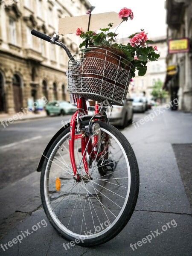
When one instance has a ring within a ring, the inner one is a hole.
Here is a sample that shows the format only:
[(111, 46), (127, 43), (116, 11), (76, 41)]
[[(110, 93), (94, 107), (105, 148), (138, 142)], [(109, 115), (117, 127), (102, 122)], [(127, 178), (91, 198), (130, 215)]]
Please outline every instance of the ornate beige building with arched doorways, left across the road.
[[(52, 36), (58, 19), (85, 15), (87, 0), (0, 1), (0, 113), (15, 113), (45, 96), (69, 100), (68, 57), (61, 47), (31, 35), (35, 29)], [(60, 36), (72, 55), (79, 52), (76, 35)]]

